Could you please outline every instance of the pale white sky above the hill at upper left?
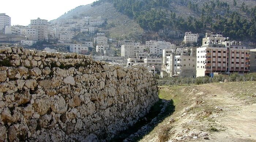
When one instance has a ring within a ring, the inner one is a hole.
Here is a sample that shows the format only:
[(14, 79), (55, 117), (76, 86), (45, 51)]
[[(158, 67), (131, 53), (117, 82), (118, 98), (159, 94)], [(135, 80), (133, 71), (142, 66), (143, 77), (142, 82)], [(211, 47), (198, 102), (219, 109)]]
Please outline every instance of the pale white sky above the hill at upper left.
[(57, 19), (75, 7), (96, 0), (3, 0), (0, 13), (11, 17), (11, 25), (29, 25), (31, 19)]

